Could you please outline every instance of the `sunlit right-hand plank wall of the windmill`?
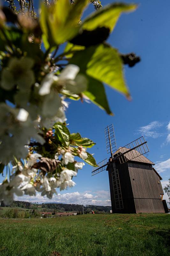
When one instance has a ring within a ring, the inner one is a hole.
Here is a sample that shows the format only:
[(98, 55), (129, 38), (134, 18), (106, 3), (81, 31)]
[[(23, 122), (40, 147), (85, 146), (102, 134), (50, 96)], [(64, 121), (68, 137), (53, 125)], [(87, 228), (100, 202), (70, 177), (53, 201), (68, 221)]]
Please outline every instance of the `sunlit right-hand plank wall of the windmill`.
[(136, 212), (165, 212), (152, 164), (128, 162)]

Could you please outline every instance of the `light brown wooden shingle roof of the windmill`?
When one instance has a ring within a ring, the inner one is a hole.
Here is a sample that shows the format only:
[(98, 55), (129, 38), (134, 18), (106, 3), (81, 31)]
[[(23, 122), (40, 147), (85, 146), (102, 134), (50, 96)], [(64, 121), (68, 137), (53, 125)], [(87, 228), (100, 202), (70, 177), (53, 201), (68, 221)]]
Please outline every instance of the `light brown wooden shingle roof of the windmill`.
[[(128, 151), (129, 148), (118, 148), (118, 150), (114, 153), (124, 153)], [(132, 151), (128, 152), (127, 154), (125, 153), (124, 156), (127, 158), (129, 161), (135, 161), (135, 162), (141, 162), (141, 163), (146, 163), (146, 164), (154, 164), (151, 162), (148, 158), (146, 158), (144, 155), (141, 155), (137, 150), (133, 149)]]

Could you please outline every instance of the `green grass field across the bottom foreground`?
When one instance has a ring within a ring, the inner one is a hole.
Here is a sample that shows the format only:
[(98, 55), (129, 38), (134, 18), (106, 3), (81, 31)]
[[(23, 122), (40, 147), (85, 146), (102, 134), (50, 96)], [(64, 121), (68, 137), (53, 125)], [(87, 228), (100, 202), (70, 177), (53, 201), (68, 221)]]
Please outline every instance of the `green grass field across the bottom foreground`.
[(170, 256), (170, 214), (0, 219), (0, 230), (0, 256)]

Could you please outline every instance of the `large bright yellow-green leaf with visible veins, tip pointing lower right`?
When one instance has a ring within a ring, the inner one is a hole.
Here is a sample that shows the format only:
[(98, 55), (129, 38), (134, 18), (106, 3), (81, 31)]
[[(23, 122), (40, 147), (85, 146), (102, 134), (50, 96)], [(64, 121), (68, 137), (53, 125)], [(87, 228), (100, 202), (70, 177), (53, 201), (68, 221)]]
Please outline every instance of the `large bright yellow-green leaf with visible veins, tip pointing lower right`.
[(76, 52), (70, 63), (79, 66), (81, 73), (86, 73), (129, 97), (123, 76), (122, 60), (116, 49), (107, 44), (91, 46)]

